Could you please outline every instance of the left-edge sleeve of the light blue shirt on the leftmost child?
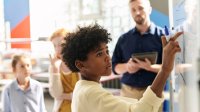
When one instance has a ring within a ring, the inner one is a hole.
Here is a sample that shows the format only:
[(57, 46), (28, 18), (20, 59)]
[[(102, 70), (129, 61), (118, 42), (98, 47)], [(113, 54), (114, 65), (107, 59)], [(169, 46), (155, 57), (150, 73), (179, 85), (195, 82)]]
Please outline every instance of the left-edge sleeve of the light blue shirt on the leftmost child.
[(8, 88), (6, 87), (3, 92), (2, 92), (2, 110), (3, 112), (11, 112), (11, 107), (10, 107), (10, 97), (9, 97), (9, 92)]

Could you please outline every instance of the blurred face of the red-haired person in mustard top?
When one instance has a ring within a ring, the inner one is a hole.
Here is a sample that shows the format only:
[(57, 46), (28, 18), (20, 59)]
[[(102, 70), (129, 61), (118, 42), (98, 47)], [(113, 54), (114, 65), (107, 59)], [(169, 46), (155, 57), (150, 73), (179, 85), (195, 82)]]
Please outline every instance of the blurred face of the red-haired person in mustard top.
[(55, 37), (54, 39), (52, 39), (56, 56), (59, 59), (61, 58), (61, 50), (62, 50), (61, 44), (63, 39), (64, 39), (63, 37)]

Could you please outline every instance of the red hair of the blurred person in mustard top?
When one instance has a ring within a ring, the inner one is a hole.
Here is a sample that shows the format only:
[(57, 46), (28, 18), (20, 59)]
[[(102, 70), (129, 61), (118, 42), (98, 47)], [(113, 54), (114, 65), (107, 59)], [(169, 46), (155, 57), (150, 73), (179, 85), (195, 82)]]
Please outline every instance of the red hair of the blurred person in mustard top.
[(54, 38), (57, 37), (65, 37), (68, 33), (69, 31), (64, 28), (58, 29), (49, 37), (49, 40), (52, 41)]

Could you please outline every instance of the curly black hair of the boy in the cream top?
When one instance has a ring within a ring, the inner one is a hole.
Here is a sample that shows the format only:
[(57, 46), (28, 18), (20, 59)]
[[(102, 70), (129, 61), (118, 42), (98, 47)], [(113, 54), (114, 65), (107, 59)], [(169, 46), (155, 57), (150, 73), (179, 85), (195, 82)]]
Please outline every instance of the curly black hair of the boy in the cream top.
[(86, 61), (89, 52), (100, 47), (102, 43), (111, 41), (110, 33), (95, 23), (86, 27), (78, 27), (78, 30), (69, 33), (62, 44), (62, 59), (72, 72), (79, 72), (75, 61)]

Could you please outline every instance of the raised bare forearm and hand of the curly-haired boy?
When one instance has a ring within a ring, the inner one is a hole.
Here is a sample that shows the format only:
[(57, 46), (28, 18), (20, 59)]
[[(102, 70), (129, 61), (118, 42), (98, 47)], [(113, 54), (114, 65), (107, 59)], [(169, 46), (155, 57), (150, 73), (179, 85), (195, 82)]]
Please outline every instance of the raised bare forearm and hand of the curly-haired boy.
[(175, 54), (181, 51), (179, 43), (176, 39), (183, 34), (183, 32), (176, 33), (169, 42), (167, 42), (166, 37), (162, 36), (163, 45), (163, 60), (161, 70), (158, 72), (155, 80), (152, 83), (151, 89), (158, 96), (162, 97), (162, 92), (169, 77), (173, 67)]

